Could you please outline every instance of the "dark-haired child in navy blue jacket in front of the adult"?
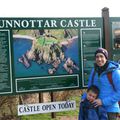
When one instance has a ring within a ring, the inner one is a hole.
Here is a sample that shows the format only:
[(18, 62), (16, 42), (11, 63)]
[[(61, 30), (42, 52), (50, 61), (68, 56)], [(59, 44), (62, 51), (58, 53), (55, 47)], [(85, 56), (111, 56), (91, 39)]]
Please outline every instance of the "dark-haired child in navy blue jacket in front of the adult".
[(87, 97), (80, 103), (78, 120), (108, 120), (107, 112), (102, 106), (94, 107), (93, 101), (98, 97), (99, 89), (92, 85), (87, 90)]

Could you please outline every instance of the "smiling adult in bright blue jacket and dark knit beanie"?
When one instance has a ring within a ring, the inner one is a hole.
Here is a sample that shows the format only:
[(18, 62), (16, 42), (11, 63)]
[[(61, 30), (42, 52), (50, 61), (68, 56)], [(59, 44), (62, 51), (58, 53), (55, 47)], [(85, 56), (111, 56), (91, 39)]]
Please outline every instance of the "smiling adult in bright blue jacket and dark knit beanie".
[[(108, 79), (109, 72), (112, 74), (115, 89)], [(88, 88), (91, 85), (96, 85), (100, 90), (99, 98), (94, 100), (95, 107), (104, 106), (109, 120), (120, 119), (118, 116), (120, 113), (118, 104), (120, 101), (120, 64), (109, 61), (108, 52), (104, 48), (98, 48), (95, 52), (95, 64), (89, 76)]]

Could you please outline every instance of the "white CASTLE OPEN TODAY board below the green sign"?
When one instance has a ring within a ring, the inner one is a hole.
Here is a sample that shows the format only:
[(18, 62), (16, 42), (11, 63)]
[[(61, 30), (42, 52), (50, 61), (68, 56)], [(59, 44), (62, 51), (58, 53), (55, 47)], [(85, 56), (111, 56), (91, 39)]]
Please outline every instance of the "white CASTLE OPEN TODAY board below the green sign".
[(18, 115), (30, 115), (38, 113), (50, 113), (69, 111), (76, 109), (75, 101), (62, 101), (62, 102), (51, 102), (51, 103), (39, 103), (39, 104), (27, 104), (18, 105)]

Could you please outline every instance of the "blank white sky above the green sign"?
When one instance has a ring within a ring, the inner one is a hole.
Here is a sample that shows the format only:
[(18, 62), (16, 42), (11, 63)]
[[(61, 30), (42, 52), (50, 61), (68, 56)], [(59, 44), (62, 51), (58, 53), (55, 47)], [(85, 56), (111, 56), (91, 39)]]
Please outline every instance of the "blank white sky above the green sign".
[(120, 17), (120, 0), (1, 0), (0, 17)]

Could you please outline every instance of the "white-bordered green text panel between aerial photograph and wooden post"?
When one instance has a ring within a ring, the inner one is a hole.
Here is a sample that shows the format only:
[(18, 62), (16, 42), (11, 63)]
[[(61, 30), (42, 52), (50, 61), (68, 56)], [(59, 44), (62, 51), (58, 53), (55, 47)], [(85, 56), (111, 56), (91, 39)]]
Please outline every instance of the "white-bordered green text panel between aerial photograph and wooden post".
[(82, 85), (86, 87), (91, 69), (94, 67), (94, 52), (98, 47), (102, 47), (101, 28), (81, 29), (81, 61), (82, 63)]

